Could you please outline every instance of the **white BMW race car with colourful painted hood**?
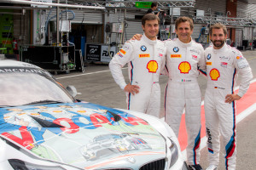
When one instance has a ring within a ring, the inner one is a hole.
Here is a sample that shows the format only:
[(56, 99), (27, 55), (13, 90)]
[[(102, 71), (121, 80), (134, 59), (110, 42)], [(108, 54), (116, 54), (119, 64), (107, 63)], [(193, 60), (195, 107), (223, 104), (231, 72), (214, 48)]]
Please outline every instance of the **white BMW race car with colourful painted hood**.
[(188, 169), (166, 122), (75, 99), (36, 65), (1, 60), (0, 94), (0, 169)]

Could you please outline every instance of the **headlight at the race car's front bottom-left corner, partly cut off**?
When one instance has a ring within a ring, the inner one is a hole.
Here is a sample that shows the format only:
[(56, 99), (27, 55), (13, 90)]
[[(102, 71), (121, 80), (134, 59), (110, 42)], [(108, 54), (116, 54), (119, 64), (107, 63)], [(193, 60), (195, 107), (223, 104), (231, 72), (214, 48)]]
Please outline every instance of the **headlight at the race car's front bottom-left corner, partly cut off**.
[(14, 170), (67, 170), (59, 166), (35, 165), (17, 159), (9, 159), (8, 161), (9, 164), (14, 168)]

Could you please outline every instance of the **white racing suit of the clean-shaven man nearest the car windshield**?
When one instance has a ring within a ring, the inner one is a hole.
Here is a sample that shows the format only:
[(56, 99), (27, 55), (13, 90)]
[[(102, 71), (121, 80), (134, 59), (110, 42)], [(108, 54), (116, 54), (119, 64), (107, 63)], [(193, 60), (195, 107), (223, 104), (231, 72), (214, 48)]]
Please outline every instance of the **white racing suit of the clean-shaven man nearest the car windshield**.
[(160, 71), (166, 64), (166, 45), (159, 40), (152, 41), (143, 35), (140, 41), (125, 42), (115, 54), (109, 68), (119, 87), (126, 86), (121, 67), (128, 63), (131, 85), (139, 86), (139, 93), (126, 93), (128, 110), (160, 116)]

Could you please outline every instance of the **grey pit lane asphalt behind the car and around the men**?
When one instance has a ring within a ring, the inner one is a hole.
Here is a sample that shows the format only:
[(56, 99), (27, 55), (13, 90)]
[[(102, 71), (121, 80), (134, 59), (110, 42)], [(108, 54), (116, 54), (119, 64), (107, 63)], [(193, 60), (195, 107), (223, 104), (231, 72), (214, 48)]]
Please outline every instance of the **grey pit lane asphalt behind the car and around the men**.
[[(256, 77), (256, 50), (243, 51), (242, 54), (247, 59), (253, 71), (253, 78)], [(79, 95), (77, 99), (82, 99), (99, 105), (106, 105), (113, 108), (126, 109), (125, 93), (113, 81), (113, 77), (108, 69), (108, 65), (104, 64), (85, 64), (85, 71), (71, 71), (69, 74), (55, 75), (58, 82), (64, 87), (73, 85), (77, 88)], [(127, 68), (123, 69), (125, 81), (129, 82)], [(167, 77), (160, 76), (161, 87), (161, 111), (160, 117), (164, 116), (164, 98), (166, 89)], [(206, 78), (200, 76), (198, 82), (201, 87), (202, 99), (204, 98), (205, 89), (207, 88)], [(239, 78), (238, 78), (239, 82)], [(256, 98), (256, 96), (255, 96)], [(237, 170), (253, 170), (256, 168), (256, 111), (247, 116), (236, 125), (237, 134)], [(223, 150), (223, 146), (221, 149)], [(201, 166), (206, 169), (207, 149), (201, 150)], [(224, 169), (224, 152), (220, 153), (220, 163), (218, 170)]]

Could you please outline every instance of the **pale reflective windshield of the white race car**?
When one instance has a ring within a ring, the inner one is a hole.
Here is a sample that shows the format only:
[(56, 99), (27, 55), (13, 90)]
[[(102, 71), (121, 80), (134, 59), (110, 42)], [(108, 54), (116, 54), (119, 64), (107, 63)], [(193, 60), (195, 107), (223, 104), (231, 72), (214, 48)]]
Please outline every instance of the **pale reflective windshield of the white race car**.
[(73, 98), (50, 77), (27, 72), (0, 74), (0, 107), (44, 104), (47, 101), (72, 103)]

